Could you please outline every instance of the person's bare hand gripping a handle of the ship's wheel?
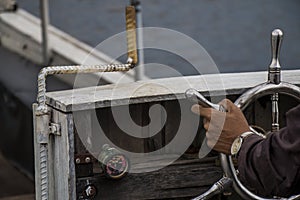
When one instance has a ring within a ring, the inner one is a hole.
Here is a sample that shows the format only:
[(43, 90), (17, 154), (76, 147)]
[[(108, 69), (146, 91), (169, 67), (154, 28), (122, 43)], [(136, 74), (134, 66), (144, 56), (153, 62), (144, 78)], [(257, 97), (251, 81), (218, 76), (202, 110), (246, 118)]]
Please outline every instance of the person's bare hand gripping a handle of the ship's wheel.
[(198, 104), (193, 105), (191, 110), (204, 118), (207, 145), (229, 155), (233, 141), (242, 133), (250, 131), (250, 128), (242, 111), (230, 100), (224, 99), (219, 104), (227, 112), (204, 108)]

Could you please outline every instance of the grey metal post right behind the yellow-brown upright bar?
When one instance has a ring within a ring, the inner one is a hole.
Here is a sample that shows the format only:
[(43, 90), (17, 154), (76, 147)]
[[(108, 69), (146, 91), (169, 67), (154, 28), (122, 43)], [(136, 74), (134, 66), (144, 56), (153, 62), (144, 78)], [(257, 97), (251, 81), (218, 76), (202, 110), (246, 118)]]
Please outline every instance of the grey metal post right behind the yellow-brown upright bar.
[(131, 0), (130, 4), (135, 7), (136, 28), (137, 28), (137, 49), (138, 49), (138, 67), (135, 70), (135, 81), (142, 80), (144, 77), (144, 45), (143, 45), (143, 19), (142, 6), (138, 0)]

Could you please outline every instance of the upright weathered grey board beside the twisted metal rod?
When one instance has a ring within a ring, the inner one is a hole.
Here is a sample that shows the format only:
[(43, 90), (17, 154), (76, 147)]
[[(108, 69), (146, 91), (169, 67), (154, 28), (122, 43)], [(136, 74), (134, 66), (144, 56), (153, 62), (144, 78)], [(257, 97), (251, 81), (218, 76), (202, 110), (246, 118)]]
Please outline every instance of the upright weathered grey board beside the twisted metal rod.
[[(49, 199), (76, 199), (73, 117), (53, 110), (61, 135), (49, 141)], [(70, 134), (72, 133), (72, 134)]]

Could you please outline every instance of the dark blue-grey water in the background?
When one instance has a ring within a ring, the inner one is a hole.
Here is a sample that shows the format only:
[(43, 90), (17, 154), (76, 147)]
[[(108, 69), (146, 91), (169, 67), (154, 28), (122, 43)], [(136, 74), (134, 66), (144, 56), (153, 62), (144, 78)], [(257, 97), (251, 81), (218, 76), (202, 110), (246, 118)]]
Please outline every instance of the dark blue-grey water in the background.
[[(38, 15), (36, 0), (20, 0), (20, 7)], [(51, 23), (96, 46), (125, 30), (121, 0), (50, 0)], [(298, 0), (142, 0), (144, 26), (180, 31), (199, 42), (221, 72), (266, 70), (270, 62), (270, 32), (283, 29), (283, 69), (300, 68), (300, 1)], [(180, 47), (178, 47), (180, 48)], [(186, 51), (189, 51), (187, 49)], [(145, 52), (145, 62), (173, 66), (184, 75), (195, 74), (186, 62), (168, 53)], [(148, 66), (150, 77), (173, 76)]]

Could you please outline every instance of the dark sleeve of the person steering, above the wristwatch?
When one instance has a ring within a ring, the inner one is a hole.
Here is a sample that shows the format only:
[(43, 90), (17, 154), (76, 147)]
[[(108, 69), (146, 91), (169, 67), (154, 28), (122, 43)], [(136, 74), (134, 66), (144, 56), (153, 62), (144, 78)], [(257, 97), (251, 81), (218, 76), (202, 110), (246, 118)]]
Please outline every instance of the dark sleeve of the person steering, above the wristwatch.
[(286, 114), (287, 126), (266, 139), (245, 138), (238, 157), (239, 179), (263, 196), (300, 193), (300, 105)]

